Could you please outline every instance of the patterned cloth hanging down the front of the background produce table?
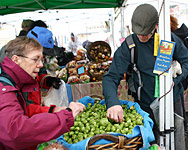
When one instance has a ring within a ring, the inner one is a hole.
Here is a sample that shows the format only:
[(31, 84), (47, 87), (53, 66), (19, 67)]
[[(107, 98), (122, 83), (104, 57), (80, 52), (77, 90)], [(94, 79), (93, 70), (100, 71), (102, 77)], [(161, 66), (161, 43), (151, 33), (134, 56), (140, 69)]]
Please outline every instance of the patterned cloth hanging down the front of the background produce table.
[[(73, 101), (78, 101), (84, 96), (102, 95), (102, 81), (89, 82), (85, 84), (71, 84)], [(118, 87), (119, 99), (132, 101), (133, 98), (128, 95), (128, 85), (125, 80), (122, 80)]]

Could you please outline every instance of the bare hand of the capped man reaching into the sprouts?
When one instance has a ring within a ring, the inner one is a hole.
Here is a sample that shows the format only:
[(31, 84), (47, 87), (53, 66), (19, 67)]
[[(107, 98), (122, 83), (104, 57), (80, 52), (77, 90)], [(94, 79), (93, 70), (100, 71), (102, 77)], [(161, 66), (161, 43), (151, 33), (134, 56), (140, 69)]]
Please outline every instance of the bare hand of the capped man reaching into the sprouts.
[(123, 108), (120, 105), (115, 105), (107, 110), (107, 117), (115, 122), (121, 123), (123, 121)]

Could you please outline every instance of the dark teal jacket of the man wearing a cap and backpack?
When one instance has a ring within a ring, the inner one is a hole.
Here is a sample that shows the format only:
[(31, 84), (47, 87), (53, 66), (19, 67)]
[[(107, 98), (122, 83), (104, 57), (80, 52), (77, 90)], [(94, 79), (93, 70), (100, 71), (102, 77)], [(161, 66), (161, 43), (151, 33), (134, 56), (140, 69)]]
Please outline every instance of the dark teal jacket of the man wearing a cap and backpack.
[[(133, 39), (138, 50), (137, 68), (140, 70), (143, 87), (141, 89), (141, 102), (143, 107), (149, 107), (153, 102), (155, 91), (155, 75), (153, 73), (156, 57), (153, 56), (154, 38), (152, 37), (148, 42), (142, 43), (138, 37), (133, 34)], [(174, 86), (174, 100), (183, 93), (183, 86), (181, 80), (185, 79), (188, 74), (188, 49), (184, 46), (182, 41), (172, 33), (172, 41), (176, 42), (173, 59), (177, 60), (182, 67), (182, 74), (173, 79)], [(128, 71), (130, 64), (130, 50), (125, 42), (115, 51), (113, 61), (109, 71), (103, 76), (103, 94), (105, 96), (107, 108), (120, 105), (117, 96), (117, 87), (120, 80), (123, 79), (124, 73)], [(138, 88), (138, 78), (134, 74), (135, 88)]]

